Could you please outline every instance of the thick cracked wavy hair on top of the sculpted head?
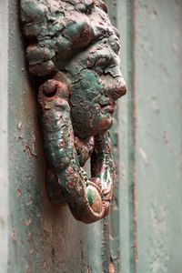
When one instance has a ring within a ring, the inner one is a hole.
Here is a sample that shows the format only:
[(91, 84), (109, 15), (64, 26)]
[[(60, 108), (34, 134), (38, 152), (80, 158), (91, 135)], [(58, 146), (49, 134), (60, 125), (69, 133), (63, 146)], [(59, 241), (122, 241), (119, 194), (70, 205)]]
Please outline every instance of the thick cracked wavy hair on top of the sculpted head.
[(22, 0), (21, 16), (29, 71), (35, 76), (66, 71), (74, 56), (96, 43), (109, 43), (118, 54), (118, 33), (101, 0)]

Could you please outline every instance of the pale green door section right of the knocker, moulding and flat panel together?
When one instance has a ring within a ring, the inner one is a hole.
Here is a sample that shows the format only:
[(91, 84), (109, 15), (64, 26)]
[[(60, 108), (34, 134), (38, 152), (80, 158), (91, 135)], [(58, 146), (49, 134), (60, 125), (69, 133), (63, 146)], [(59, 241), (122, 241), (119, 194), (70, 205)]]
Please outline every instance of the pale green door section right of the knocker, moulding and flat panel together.
[(119, 6), (128, 86), (119, 108), (121, 270), (180, 273), (182, 3)]

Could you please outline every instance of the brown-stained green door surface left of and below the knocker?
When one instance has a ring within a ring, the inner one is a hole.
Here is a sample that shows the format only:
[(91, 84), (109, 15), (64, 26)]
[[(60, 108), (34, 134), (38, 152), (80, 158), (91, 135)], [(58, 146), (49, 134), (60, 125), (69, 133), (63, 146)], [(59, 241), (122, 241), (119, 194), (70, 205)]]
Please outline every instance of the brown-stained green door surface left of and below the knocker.
[[(4, 183), (8, 185), (9, 204), (4, 203), (4, 206), (5, 216), (9, 217), (9, 229), (5, 227), (9, 242), (6, 264), (5, 240), (1, 241), (7, 270), (5, 267), (1, 269), (3, 272), (26, 273), (102, 272), (101, 223), (86, 226), (77, 222), (67, 207), (53, 206), (46, 196), (45, 157), (35, 86), (25, 67), (24, 39), (18, 23), (19, 1), (10, 0), (7, 4), (9, 71), (8, 135), (5, 135), (5, 141), (8, 142), (9, 182), (4, 180)], [(7, 35), (5, 28), (4, 31)], [(7, 65), (7, 56), (4, 63)], [(6, 76), (5, 73), (4, 66), (2, 75)], [(5, 116), (7, 106), (1, 110)], [(5, 198), (1, 196), (2, 201)]]

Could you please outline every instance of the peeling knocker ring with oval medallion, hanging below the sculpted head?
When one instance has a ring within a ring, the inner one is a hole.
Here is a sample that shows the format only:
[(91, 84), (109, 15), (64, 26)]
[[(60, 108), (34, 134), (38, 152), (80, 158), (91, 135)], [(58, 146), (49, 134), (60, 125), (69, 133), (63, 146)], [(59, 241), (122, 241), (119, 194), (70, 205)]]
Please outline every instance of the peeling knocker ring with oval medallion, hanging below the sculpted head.
[[(46, 81), (39, 88), (38, 101), (44, 131), (48, 196), (56, 205), (67, 203), (74, 217), (85, 223), (105, 217), (110, 211), (116, 177), (109, 133), (83, 141), (76, 139), (66, 83), (55, 79)], [(103, 130), (102, 122), (102, 118), (98, 119)], [(91, 178), (82, 168), (88, 157), (91, 158)]]

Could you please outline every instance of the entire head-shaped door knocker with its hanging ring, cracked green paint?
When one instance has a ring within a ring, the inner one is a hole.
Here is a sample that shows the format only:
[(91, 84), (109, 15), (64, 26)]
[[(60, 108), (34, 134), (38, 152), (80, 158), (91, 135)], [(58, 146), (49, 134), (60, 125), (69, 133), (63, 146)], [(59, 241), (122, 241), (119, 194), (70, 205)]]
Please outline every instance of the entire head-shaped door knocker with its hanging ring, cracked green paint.
[[(46, 186), (76, 219), (105, 217), (115, 167), (108, 129), (116, 100), (126, 94), (119, 35), (101, 0), (21, 0), (29, 71), (38, 91)], [(83, 166), (91, 160), (91, 178)]]

